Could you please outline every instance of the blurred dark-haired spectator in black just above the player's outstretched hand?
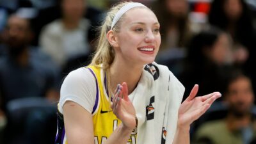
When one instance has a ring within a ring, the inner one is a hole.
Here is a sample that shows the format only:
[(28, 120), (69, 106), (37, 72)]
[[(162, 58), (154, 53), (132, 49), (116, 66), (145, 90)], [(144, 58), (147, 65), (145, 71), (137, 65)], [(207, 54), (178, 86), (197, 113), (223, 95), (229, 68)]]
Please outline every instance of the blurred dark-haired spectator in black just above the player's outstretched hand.
[(230, 36), (217, 28), (205, 29), (195, 35), (189, 43), (184, 72), (180, 76), (184, 86), (189, 90), (193, 83), (199, 84), (199, 95), (211, 90), (222, 93), (225, 75), (232, 69), (231, 44)]

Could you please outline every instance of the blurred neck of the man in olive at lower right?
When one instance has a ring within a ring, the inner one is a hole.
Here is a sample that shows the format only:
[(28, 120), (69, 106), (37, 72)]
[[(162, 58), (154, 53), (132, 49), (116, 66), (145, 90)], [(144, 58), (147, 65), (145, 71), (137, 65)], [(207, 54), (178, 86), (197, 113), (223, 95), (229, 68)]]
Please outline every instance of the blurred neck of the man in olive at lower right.
[(232, 114), (228, 114), (226, 124), (230, 131), (237, 131), (243, 127), (248, 127), (251, 124), (251, 115), (237, 117)]

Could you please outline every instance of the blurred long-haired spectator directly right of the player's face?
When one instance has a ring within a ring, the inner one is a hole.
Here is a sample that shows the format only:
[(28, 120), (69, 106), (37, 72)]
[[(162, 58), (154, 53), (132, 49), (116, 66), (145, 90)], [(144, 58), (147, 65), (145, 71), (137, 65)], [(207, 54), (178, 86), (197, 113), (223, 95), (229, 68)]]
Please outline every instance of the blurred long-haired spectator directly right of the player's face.
[(158, 0), (152, 3), (152, 9), (161, 24), (162, 42), (156, 61), (179, 76), (180, 61), (186, 57), (186, 46), (192, 35), (189, 3), (186, 0)]

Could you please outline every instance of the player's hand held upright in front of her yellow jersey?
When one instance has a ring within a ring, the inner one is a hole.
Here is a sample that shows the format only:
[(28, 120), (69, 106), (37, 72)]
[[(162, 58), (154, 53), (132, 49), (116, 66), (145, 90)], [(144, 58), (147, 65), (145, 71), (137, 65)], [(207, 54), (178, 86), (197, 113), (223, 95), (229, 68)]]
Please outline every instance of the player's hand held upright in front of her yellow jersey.
[(116, 117), (122, 121), (125, 128), (130, 130), (134, 129), (136, 126), (135, 109), (128, 97), (128, 87), (126, 83), (122, 83), (122, 85), (118, 84), (111, 108)]

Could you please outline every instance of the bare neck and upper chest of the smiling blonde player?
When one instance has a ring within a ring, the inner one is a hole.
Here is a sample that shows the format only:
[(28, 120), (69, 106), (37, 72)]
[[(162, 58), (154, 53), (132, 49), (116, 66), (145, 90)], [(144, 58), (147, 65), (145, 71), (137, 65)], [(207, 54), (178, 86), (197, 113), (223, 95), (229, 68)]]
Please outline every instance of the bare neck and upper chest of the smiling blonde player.
[(123, 64), (113, 61), (109, 70), (110, 89), (115, 92), (117, 84), (127, 83), (128, 94), (136, 88), (143, 71), (143, 66), (136, 67), (135, 65)]

